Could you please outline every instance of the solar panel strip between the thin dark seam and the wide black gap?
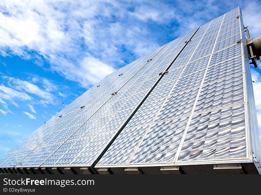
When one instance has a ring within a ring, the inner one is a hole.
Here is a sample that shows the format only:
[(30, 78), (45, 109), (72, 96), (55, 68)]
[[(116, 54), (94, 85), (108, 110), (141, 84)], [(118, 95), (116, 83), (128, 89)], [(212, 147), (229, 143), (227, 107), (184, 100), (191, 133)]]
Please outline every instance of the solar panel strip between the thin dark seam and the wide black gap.
[[(192, 32), (190, 32), (190, 36), (191, 33)], [(181, 39), (183, 38), (187, 37), (184, 36)], [(166, 59), (170, 54), (171, 48), (180, 48), (184, 45), (184, 43), (181, 45), (174, 44), (178, 41), (180, 40), (178, 39), (164, 47), (163, 50), (155, 56), (155, 61), (153, 59), (151, 63), (149, 63), (150, 61), (147, 62), (139, 72), (145, 72), (147, 69), (151, 70), (154, 67), (154, 69), (160, 67), (160, 62), (162, 62), (164, 58)], [(171, 55), (173, 55), (173, 53), (171, 53)], [(169, 60), (172, 58), (173, 57), (171, 56)], [(65, 145), (55, 151), (42, 166), (91, 166), (119, 131), (120, 127), (125, 123), (133, 110), (136, 109), (137, 104), (140, 103), (147, 91), (157, 81), (157, 78), (159, 77), (158, 74), (148, 78), (148, 75), (151, 74), (152, 71), (148, 71), (147, 74), (139, 74), (139, 72), (137, 72), (137, 74), (117, 91), (117, 94), (113, 95), (112, 98), (87, 120), (81, 128), (69, 137), (65, 142)], [(142, 77), (142, 79), (140, 77)], [(81, 144), (76, 144), (79, 142)], [(66, 146), (69, 143), (74, 143), (72, 144), (74, 145), (74, 148), (68, 150), (66, 155), (63, 155), (64, 148), (69, 148), (69, 146)], [(83, 146), (85, 144), (86, 147)], [(79, 156), (81, 156), (80, 159)]]

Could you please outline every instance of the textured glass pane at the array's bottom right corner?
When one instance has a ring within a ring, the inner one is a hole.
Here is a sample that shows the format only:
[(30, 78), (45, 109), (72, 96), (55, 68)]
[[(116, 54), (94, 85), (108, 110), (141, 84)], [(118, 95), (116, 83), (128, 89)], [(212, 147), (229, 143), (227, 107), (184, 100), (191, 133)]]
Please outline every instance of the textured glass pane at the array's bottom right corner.
[(246, 156), (244, 105), (194, 115), (178, 161)]

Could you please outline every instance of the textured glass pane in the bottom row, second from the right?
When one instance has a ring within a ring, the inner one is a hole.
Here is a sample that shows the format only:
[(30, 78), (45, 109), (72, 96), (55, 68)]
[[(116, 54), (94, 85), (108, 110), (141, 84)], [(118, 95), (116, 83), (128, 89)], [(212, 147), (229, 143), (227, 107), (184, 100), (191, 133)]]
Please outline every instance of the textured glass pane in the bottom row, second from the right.
[(188, 118), (152, 125), (130, 163), (173, 162)]

